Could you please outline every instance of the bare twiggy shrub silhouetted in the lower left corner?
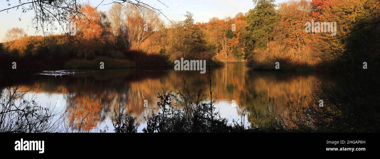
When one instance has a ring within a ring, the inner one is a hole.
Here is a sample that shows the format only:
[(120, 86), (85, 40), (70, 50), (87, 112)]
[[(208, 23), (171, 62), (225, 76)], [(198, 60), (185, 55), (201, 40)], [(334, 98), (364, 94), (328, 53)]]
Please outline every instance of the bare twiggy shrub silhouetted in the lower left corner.
[(25, 96), (21, 86), (7, 87), (0, 92), (0, 132), (58, 132), (64, 120), (54, 106), (43, 107), (35, 99)]

